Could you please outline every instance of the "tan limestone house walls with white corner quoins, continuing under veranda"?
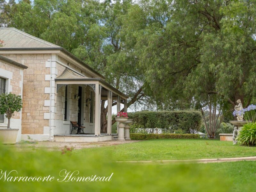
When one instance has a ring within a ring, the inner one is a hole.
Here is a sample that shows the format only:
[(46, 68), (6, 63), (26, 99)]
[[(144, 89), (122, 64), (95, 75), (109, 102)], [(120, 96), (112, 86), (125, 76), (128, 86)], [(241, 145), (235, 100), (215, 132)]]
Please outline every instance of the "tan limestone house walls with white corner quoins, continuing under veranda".
[[(24, 70), (23, 75), (23, 108), (22, 108), (22, 137), (27, 140), (28, 136), (35, 140), (49, 140), (50, 135), (50, 119), (52, 119), (51, 139), (54, 134), (69, 134), (70, 120), (77, 121), (78, 116), (78, 100), (74, 99), (75, 93), (78, 93), (78, 85), (68, 86), (68, 118), (64, 121), (64, 107), (65, 107), (65, 87), (61, 87), (58, 94), (55, 95), (55, 81), (65, 68), (74, 69), (78, 73), (85, 76), (92, 77), (84, 69), (76, 67), (74, 64), (61, 58), (57, 54), (1, 54), (2, 56), (22, 63), (28, 66)], [(52, 72), (50, 72), (52, 68)], [(15, 73), (19, 73), (16, 71)], [(50, 74), (52, 73), (52, 79)], [(12, 85), (20, 85), (20, 88), (13, 86), (13, 92), (21, 92), (22, 83), (21, 75), (15, 75), (11, 81)], [(18, 83), (19, 81), (19, 83)], [(50, 83), (51, 82), (51, 83)], [(11, 86), (12, 86), (11, 85)], [(90, 101), (86, 106), (86, 99), (90, 98), (92, 89), (89, 86), (83, 87), (83, 116), (85, 132), (94, 132), (94, 123), (90, 123)], [(50, 93), (52, 92), (52, 100), (50, 100)], [(95, 93), (94, 93), (95, 94)], [(94, 97), (95, 98), (95, 97)], [(95, 100), (94, 109), (95, 109)], [(52, 106), (52, 116), (50, 118), (50, 106)], [(93, 112), (95, 114), (95, 112)], [(15, 114), (15, 118), (19, 117), (19, 113)], [(94, 117), (95, 115), (93, 115)], [(82, 118), (83, 121), (83, 118)], [(95, 122), (93, 120), (93, 122)], [(33, 136), (31, 136), (31, 134)]]

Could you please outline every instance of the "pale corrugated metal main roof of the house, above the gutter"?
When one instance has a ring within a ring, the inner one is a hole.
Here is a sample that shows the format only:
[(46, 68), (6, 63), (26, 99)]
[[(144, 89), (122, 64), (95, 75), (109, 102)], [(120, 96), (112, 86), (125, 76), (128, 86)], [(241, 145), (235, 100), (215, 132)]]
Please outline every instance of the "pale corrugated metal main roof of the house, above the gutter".
[(16, 28), (0, 28), (0, 40), (4, 41), (1, 48), (52, 48), (60, 47)]

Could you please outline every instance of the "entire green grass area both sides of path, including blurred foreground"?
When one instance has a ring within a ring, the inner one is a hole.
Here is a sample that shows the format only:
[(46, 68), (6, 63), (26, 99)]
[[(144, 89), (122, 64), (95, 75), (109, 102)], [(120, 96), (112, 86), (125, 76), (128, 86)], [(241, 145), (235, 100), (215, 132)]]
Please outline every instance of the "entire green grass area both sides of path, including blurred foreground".
[[(7, 182), (5, 192), (23, 191), (254, 191), (256, 162), (209, 164), (116, 163), (116, 160), (197, 159), (252, 156), (256, 148), (218, 140), (149, 140), (118, 146), (61, 151), (19, 150), (0, 145), (1, 170), (10, 176), (51, 176), (52, 182)], [(58, 182), (59, 172), (79, 170), (74, 176), (109, 176), (110, 182)], [(1, 178), (1, 175), (0, 175)]]

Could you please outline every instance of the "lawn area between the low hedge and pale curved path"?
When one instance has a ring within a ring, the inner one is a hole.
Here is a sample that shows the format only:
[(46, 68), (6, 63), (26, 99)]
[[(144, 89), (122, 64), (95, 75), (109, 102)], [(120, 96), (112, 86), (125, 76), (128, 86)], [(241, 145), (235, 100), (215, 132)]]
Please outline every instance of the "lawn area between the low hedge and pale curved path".
[(76, 153), (110, 154), (116, 161), (174, 160), (256, 156), (255, 147), (233, 145), (231, 141), (157, 139), (104, 148), (86, 148)]

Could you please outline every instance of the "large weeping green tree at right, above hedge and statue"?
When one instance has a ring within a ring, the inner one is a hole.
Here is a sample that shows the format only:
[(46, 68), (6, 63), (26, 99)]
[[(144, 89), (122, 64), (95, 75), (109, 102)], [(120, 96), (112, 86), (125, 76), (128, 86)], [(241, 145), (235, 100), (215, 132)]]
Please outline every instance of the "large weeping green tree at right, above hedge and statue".
[[(141, 7), (151, 12), (156, 28), (139, 42), (140, 61), (146, 69), (144, 86), (159, 106), (205, 108), (215, 103), (217, 112), (231, 114), (237, 99), (244, 106), (252, 102), (255, 1), (149, 2)], [(170, 16), (161, 9), (164, 5), (171, 7)]]

